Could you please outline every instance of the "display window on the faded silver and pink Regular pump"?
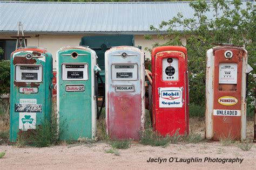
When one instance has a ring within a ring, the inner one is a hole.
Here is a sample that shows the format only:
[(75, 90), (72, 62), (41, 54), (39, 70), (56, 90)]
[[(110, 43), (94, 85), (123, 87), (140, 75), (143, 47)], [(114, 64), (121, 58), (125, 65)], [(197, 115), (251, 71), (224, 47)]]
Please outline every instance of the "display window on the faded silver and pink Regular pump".
[(113, 63), (111, 77), (113, 81), (138, 80), (138, 65), (137, 63)]

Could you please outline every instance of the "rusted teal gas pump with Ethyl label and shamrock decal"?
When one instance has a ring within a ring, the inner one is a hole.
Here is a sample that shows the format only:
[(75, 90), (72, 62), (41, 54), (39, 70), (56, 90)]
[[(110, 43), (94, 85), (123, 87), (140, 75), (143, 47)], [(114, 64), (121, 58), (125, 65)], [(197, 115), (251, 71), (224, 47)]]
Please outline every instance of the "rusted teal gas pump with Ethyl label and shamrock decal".
[(43, 48), (11, 54), (10, 141), (51, 120), (52, 55)]

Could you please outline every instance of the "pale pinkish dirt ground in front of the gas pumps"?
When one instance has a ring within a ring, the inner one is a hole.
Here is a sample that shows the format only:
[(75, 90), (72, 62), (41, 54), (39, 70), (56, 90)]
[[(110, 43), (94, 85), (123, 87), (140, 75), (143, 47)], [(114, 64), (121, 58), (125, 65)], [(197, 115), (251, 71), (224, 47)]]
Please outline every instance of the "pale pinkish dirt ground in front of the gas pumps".
[[(191, 119), (191, 131), (204, 133), (204, 123)], [(198, 120), (197, 120), (198, 121)], [(194, 125), (194, 126), (193, 126)], [(248, 138), (252, 139), (253, 121), (247, 122)], [(118, 150), (120, 155), (106, 153), (111, 146), (103, 142), (92, 144), (66, 144), (51, 147), (16, 147), (0, 145), (5, 152), (0, 159), (0, 169), (255, 169), (256, 144), (250, 151), (242, 151), (237, 144), (223, 146), (219, 142), (206, 141), (197, 144), (170, 144), (167, 147), (145, 146), (132, 143), (126, 150)], [(166, 159), (166, 162), (147, 162), (150, 158)], [(171, 159), (170, 159), (171, 158)], [(174, 158), (173, 162), (170, 162)], [(202, 159), (201, 162), (175, 162), (181, 159)], [(208, 162), (205, 159), (243, 159), (239, 162)]]

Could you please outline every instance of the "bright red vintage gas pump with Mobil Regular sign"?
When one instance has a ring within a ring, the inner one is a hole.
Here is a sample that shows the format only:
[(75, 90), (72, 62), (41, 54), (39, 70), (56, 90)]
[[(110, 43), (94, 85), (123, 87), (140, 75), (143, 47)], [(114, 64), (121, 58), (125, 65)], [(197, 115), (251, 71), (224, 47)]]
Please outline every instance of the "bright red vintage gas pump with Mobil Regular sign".
[(156, 47), (151, 58), (153, 130), (163, 136), (188, 134), (187, 50)]

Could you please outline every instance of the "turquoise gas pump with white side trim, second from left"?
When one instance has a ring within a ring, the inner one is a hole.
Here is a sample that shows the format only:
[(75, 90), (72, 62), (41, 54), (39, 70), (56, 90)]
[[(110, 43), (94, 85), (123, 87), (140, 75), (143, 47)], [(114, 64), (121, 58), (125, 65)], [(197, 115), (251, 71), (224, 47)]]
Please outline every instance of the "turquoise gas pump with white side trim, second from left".
[(72, 46), (57, 52), (57, 117), (59, 139), (76, 141), (96, 133), (96, 53)]

